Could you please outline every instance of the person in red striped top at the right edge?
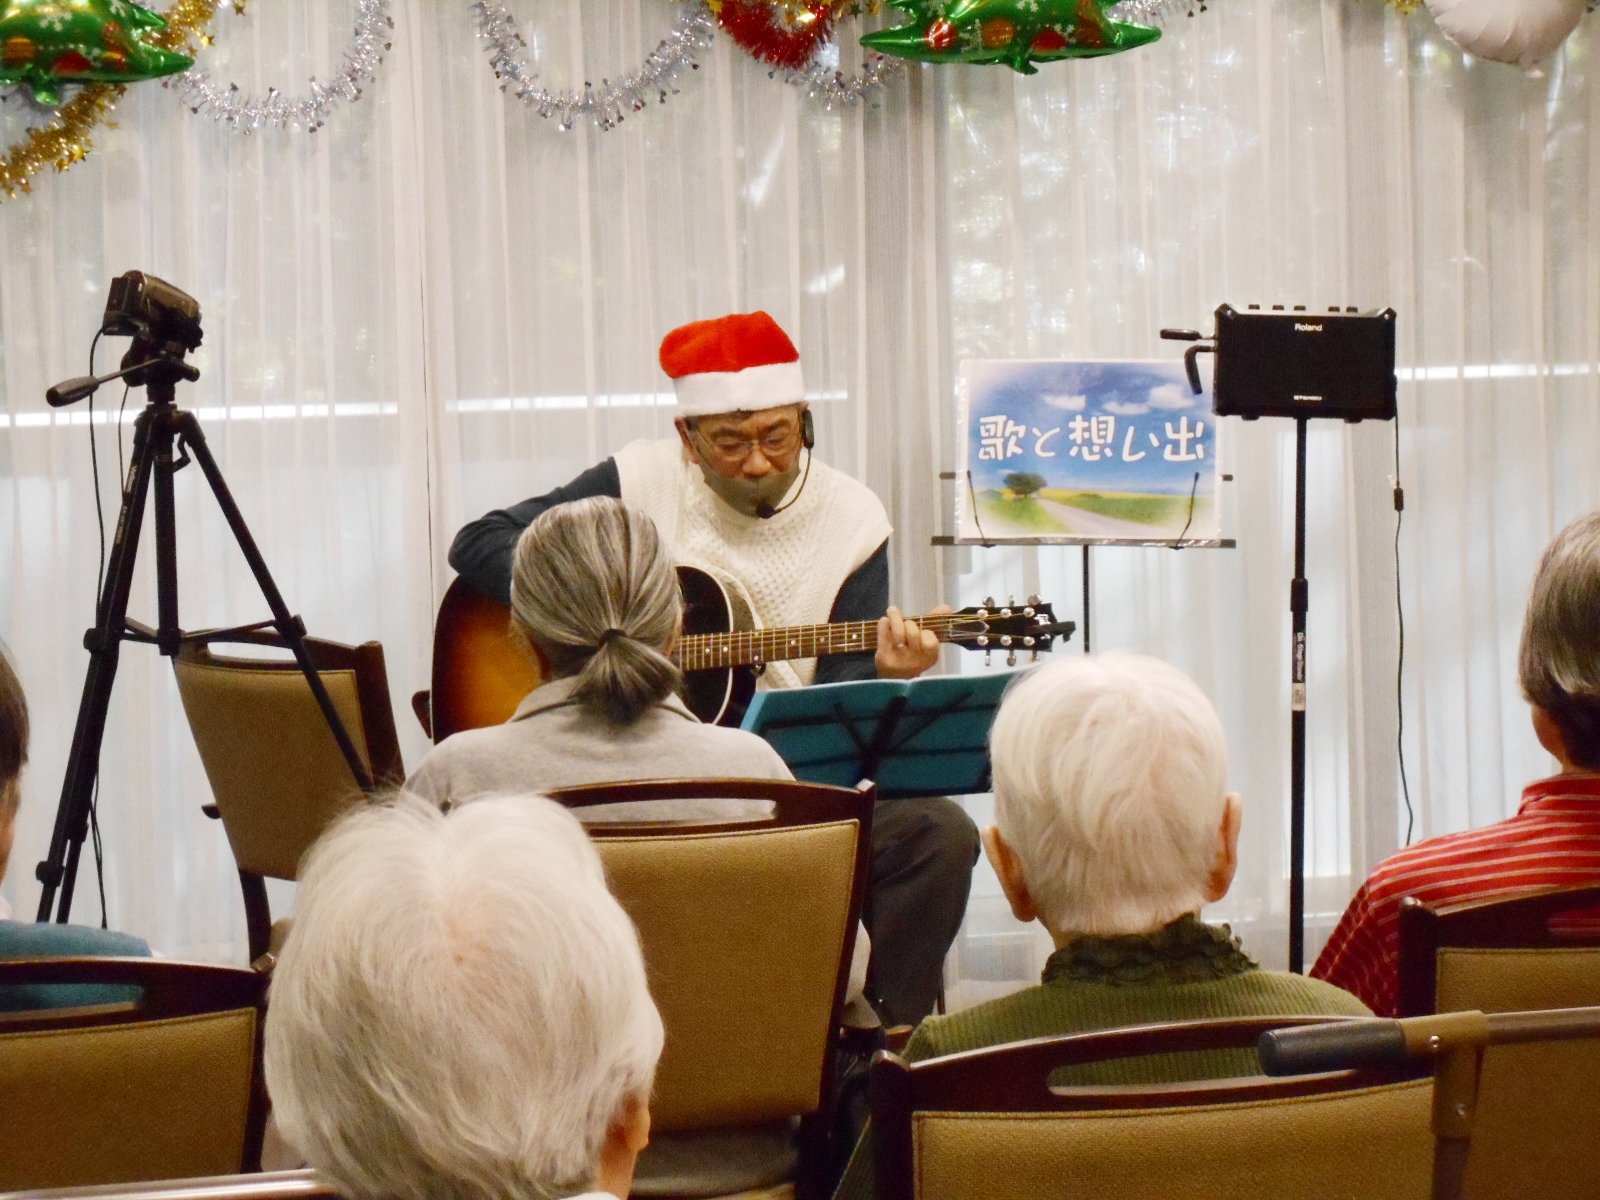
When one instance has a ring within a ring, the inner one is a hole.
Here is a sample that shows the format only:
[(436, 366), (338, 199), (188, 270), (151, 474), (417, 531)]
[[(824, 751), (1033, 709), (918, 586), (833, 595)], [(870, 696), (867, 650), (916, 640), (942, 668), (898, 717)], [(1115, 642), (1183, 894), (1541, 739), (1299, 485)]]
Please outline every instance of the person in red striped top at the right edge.
[(1379, 1016), (1398, 1003), (1400, 901), (1456, 904), (1600, 880), (1600, 512), (1544, 552), (1517, 675), (1533, 731), (1560, 771), (1528, 784), (1517, 814), (1390, 854), (1344, 910), (1312, 974)]

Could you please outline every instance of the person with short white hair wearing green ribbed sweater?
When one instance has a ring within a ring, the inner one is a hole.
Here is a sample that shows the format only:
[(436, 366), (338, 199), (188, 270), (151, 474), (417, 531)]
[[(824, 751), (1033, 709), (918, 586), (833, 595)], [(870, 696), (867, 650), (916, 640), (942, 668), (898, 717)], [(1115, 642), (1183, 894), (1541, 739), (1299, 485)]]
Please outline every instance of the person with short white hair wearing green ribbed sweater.
[[(989, 738), (995, 824), (984, 850), (1022, 922), (1056, 944), (1043, 979), (923, 1021), (910, 1061), (1034, 1037), (1219, 1016), (1365, 1016), (1355, 997), (1262, 971), (1202, 906), (1234, 882), (1240, 797), (1222, 725), (1176, 667), (1134, 654), (1066, 658), (1022, 675)], [(1163, 1083), (1259, 1072), (1253, 1050), (1086, 1064), (1074, 1083)], [(870, 1130), (840, 1195), (872, 1189)]]

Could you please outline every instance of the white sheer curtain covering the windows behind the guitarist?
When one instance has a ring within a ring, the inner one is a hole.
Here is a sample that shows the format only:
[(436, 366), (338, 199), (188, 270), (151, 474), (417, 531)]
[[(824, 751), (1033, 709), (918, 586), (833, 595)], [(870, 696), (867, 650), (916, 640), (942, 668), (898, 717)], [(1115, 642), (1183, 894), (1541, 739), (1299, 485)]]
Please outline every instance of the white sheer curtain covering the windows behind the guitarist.
[[(674, 18), (509, 6), (550, 88), (634, 69)], [(106, 283), (134, 267), (200, 299), (203, 378), (179, 402), (290, 606), (315, 634), (384, 642), (411, 763), (405, 698), (426, 685), (450, 536), (664, 432), (654, 347), (678, 322), (766, 307), (790, 328), (821, 451), (890, 506), (906, 606), (1038, 590), (1082, 619), (1077, 550), (930, 544), (950, 523), (955, 363), (1170, 357), (1157, 330), (1205, 328), (1222, 301), (1394, 306), (1416, 834), (1498, 819), (1547, 770), (1512, 658), (1541, 544), (1600, 502), (1592, 21), (1528, 78), (1376, 0), (1230, 0), (1136, 53), (1032, 78), (912, 69), (835, 112), (718, 38), (666, 106), (562, 134), (496, 88), (464, 0), (395, 19), (376, 83), (315, 136), (242, 138), (139, 85), (86, 163), (0, 205), (0, 634), (37, 722), (3, 886), (18, 915), (37, 906), (98, 558), (88, 413), (50, 414), (42, 390), (85, 370)], [(338, 64), (350, 21), (346, 0), (224, 13), (206, 66), (296, 90)], [(10, 101), (0, 120), (14, 139), (29, 115)], [(96, 411), (107, 515), (115, 395)], [(1394, 432), (1310, 434), (1312, 950), (1405, 829)], [(1170, 656), (1216, 698), (1246, 795), (1218, 915), (1282, 962), (1293, 427), (1229, 422), (1224, 450), (1237, 547), (1096, 550), (1093, 642)], [(198, 472), (178, 496), (182, 622), (266, 616)], [(152, 555), (147, 533), (142, 576)], [(147, 578), (134, 610), (154, 616)], [(123, 651), (102, 766), (110, 923), (240, 958), (227, 846), (144, 646)], [(77, 920), (98, 918), (93, 890), (85, 856)], [(954, 998), (1037, 960), (981, 877)]]

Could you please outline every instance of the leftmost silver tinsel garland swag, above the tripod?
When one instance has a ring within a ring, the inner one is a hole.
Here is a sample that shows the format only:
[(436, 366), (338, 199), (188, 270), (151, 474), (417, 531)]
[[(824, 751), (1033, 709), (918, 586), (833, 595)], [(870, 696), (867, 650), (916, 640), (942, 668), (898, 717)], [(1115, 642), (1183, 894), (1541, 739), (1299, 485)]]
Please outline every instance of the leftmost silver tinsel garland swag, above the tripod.
[(238, 133), (254, 133), (269, 125), (315, 133), (334, 107), (362, 98), (362, 85), (371, 83), (382, 66), (394, 27), (389, 0), (355, 0), (355, 32), (339, 74), (326, 83), (312, 78), (306, 96), (285, 96), (277, 88), (267, 88), (266, 96), (246, 96), (237, 83), (216, 83), (197, 69), (178, 75), (168, 86), (190, 112), (208, 114)]

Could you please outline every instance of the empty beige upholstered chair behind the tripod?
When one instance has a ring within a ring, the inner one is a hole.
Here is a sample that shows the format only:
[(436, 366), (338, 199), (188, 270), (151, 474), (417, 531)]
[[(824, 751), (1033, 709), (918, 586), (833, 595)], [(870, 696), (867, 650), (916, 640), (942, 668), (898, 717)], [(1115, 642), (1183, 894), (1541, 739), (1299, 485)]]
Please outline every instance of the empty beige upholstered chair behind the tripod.
[[(277, 645), (277, 638), (264, 638)], [(323, 686), (374, 784), (405, 779), (384, 650), (306, 638)], [(173, 662), (200, 762), (211, 782), (245, 893), (250, 957), (282, 944), (266, 878), (294, 878), (301, 854), (360, 787), (288, 651), (274, 659), (222, 658), (186, 643)], [(208, 810), (210, 811), (210, 810)]]

